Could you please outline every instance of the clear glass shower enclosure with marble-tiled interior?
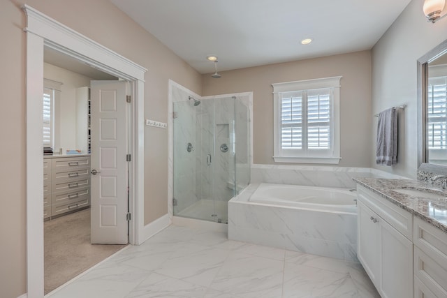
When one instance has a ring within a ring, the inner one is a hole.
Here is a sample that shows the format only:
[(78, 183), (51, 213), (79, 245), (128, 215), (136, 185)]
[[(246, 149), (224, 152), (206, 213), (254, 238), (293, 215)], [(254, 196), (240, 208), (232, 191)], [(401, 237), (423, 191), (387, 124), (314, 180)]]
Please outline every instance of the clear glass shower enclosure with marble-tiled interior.
[(176, 102), (173, 141), (174, 215), (228, 223), (228, 201), (250, 181), (247, 106), (235, 96)]

